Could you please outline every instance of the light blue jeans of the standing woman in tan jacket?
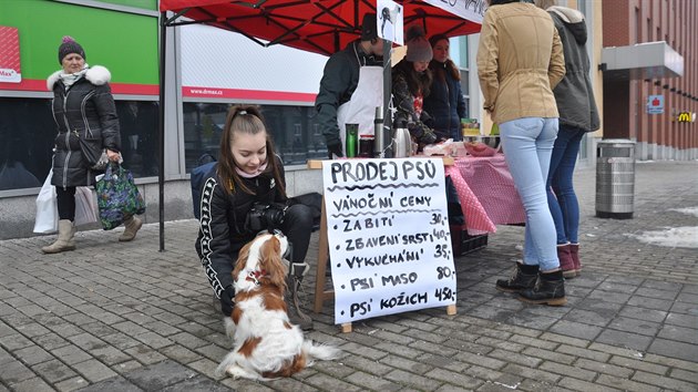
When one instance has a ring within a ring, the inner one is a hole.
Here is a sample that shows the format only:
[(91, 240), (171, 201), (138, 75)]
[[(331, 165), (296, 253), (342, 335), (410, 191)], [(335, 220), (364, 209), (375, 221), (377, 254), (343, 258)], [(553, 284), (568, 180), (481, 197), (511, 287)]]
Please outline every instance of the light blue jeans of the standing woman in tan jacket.
[(547, 207), (545, 183), (557, 118), (523, 117), (500, 124), (502, 148), (526, 210), (523, 261), (542, 271), (560, 268), (555, 224)]

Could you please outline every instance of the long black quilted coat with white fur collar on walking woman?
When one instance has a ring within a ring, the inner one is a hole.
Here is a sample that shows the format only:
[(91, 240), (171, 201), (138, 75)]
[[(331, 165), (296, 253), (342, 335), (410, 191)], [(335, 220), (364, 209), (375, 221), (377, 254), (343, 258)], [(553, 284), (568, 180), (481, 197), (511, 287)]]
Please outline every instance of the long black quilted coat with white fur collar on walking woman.
[(94, 184), (99, 172), (91, 171), (83, 158), (80, 137), (99, 149), (121, 152), (119, 117), (109, 86), (111, 74), (104, 66), (93, 66), (66, 91), (59, 78), (61, 72), (54, 72), (48, 80), (58, 127), (51, 185), (89, 186)]

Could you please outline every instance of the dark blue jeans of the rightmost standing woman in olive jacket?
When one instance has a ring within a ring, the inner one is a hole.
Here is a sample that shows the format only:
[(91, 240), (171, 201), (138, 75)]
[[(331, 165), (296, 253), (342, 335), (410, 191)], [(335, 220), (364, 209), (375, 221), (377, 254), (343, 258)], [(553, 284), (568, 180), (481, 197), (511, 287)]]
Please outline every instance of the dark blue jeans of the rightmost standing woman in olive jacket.
[(561, 125), (551, 157), (545, 188), (560, 245), (579, 243), (579, 203), (572, 176), (584, 133), (577, 127)]

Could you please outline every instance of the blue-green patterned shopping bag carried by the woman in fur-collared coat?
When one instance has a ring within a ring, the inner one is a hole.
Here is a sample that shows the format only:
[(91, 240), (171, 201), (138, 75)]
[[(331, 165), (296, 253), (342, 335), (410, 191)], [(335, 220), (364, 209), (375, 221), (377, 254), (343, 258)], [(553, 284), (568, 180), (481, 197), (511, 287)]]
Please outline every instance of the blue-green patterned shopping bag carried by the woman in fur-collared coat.
[(96, 185), (100, 220), (105, 230), (121, 225), (127, 216), (145, 213), (145, 202), (133, 174), (121, 165), (107, 165)]

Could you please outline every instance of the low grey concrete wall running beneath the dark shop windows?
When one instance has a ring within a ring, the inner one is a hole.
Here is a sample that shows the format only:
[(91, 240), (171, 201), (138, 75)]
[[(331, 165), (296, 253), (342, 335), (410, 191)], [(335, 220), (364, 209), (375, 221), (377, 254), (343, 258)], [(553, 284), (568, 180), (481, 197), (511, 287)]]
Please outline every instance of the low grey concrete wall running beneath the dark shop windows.
[[(322, 193), (322, 171), (286, 169), (287, 192), (298, 196), (311, 192)], [(138, 189), (146, 203), (143, 221), (157, 223), (160, 217), (160, 194), (157, 183), (140, 184)], [(192, 210), (192, 188), (188, 179), (165, 183), (165, 220), (194, 218)], [(0, 199), (0, 239), (25, 238), (37, 235), (34, 228), (37, 195), (6, 197)], [(29, 212), (29, 213), (28, 213)], [(99, 229), (99, 223), (79, 227), (79, 230)], [(120, 228), (115, 229), (121, 231)], [(117, 234), (114, 234), (116, 236)]]

